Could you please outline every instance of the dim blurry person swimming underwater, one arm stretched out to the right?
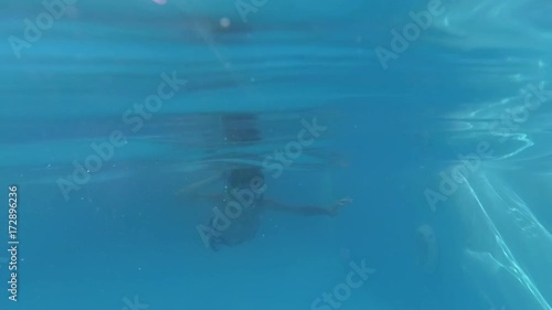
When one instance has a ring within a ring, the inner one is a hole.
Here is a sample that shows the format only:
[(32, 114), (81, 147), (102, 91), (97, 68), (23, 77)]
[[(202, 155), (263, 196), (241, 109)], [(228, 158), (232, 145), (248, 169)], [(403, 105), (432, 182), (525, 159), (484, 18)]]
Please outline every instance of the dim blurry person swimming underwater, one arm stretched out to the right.
[(191, 196), (205, 199), (222, 206), (213, 209), (213, 216), (208, 225), (198, 225), (198, 232), (205, 246), (219, 250), (222, 246), (235, 246), (251, 240), (258, 232), (263, 213), (266, 211), (283, 211), (291, 214), (312, 216), (336, 216), (341, 207), (352, 202), (351, 199), (341, 199), (330, 206), (319, 205), (289, 205), (266, 199), (265, 179), (258, 168), (237, 168), (229, 171), (223, 194), (200, 194), (190, 192), (197, 185), (214, 182), (220, 178), (200, 182), (189, 188)]

